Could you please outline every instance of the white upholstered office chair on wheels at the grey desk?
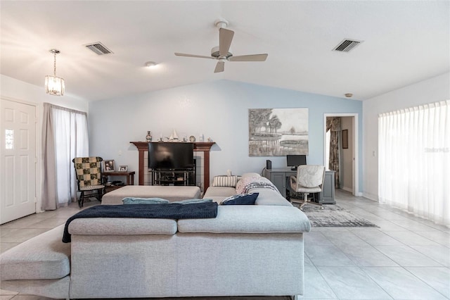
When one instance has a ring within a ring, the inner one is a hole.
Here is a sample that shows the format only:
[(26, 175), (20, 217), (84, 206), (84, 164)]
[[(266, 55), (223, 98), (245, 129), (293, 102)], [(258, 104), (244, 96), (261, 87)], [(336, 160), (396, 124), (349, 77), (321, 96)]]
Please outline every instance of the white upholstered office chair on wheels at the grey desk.
[(291, 199), (293, 202), (300, 202), (300, 209), (307, 204), (316, 204), (314, 201), (308, 201), (308, 195), (310, 193), (322, 192), (323, 180), (325, 179), (325, 167), (323, 165), (299, 165), (297, 167), (297, 176), (290, 176), (290, 188), (294, 192), (302, 193), (303, 201), (298, 199)]

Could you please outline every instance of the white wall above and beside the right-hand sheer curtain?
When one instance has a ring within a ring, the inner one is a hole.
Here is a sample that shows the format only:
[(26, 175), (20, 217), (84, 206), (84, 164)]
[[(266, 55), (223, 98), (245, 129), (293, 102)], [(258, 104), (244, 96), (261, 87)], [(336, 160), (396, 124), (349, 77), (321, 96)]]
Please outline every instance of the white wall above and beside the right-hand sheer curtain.
[(364, 196), (378, 200), (378, 114), (450, 99), (450, 73), (363, 102)]

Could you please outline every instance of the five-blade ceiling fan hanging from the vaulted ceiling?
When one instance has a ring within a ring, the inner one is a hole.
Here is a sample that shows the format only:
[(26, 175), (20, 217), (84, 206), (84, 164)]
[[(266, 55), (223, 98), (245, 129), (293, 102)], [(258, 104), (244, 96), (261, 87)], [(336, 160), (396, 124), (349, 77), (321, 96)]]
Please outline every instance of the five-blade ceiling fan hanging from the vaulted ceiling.
[(176, 56), (196, 57), (196, 58), (210, 58), (216, 59), (217, 64), (214, 73), (224, 72), (225, 61), (265, 61), (268, 54), (249, 54), (233, 56), (229, 51), (231, 41), (233, 40), (233, 30), (226, 29), (228, 21), (224, 19), (216, 20), (215, 25), (219, 28), (219, 46), (211, 49), (211, 56), (202, 56), (195, 54), (175, 53)]

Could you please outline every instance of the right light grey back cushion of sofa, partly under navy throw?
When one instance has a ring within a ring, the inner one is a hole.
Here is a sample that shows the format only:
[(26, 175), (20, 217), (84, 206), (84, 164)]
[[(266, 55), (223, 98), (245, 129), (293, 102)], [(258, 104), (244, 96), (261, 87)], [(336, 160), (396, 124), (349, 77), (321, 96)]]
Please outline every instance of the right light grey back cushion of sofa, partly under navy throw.
[(309, 232), (311, 224), (300, 209), (293, 206), (220, 205), (217, 218), (178, 220), (184, 233), (294, 233)]

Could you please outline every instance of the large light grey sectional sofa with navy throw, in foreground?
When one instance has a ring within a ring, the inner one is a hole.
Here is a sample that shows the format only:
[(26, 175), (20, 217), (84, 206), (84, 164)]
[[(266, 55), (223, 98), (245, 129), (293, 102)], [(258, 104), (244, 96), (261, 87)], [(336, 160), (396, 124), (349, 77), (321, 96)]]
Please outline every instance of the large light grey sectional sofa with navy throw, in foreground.
[[(247, 192), (259, 192), (255, 205), (219, 205), (216, 218), (75, 219), (71, 243), (61, 242), (61, 225), (1, 254), (1, 289), (57, 299), (296, 298), (309, 220), (274, 189)], [(236, 187), (213, 186), (205, 197), (230, 194)]]

